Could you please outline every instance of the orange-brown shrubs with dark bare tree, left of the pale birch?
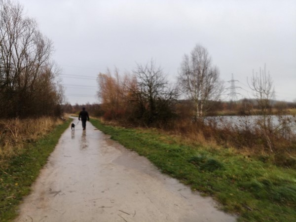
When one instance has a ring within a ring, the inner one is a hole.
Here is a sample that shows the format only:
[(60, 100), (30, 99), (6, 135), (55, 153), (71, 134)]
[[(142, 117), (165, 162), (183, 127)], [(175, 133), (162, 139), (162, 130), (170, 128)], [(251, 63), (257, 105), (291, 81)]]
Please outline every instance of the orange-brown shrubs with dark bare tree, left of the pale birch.
[(120, 77), (108, 70), (98, 76), (104, 118), (133, 125), (159, 126), (174, 118), (177, 92), (170, 89), (162, 70), (151, 60), (133, 74)]

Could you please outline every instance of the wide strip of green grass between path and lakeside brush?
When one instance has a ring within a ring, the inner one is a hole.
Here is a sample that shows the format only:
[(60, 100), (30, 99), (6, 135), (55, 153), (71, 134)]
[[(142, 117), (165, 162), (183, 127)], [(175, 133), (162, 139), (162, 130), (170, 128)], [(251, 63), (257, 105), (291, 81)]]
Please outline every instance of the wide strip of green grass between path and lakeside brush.
[(202, 147), (159, 133), (103, 125), (98, 129), (146, 156), (163, 173), (210, 195), (241, 222), (296, 221), (296, 172), (236, 154)]

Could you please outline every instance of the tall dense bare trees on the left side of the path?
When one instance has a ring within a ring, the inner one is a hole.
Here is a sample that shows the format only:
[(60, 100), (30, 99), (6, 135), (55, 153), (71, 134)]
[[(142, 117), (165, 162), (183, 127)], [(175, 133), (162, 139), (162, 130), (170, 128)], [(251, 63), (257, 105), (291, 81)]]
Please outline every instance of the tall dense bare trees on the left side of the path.
[(61, 114), (62, 86), (51, 61), (53, 44), (23, 7), (0, 0), (1, 118)]

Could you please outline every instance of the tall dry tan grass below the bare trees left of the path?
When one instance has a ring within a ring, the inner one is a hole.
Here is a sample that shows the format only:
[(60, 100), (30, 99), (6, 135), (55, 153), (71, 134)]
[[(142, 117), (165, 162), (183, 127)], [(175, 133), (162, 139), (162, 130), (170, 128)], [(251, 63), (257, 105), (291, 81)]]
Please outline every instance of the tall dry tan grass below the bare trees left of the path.
[(0, 165), (21, 153), (26, 143), (36, 141), (61, 122), (53, 117), (0, 119)]

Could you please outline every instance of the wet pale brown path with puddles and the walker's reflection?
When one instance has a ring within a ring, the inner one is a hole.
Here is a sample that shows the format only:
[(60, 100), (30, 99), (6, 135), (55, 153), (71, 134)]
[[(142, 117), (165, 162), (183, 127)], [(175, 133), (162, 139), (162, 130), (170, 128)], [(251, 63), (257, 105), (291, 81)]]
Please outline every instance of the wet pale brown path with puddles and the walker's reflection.
[[(74, 123), (77, 119), (74, 120)], [(143, 156), (87, 122), (67, 129), (16, 221), (231, 222), (211, 198), (191, 193)]]

